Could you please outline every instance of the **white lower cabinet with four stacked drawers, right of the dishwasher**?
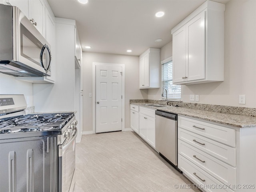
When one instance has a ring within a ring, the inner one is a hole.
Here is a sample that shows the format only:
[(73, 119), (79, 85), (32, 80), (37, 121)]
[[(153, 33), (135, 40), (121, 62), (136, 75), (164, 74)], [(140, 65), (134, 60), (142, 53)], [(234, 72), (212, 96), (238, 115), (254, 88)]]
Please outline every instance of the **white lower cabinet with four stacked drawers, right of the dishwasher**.
[(178, 168), (204, 191), (236, 190), (236, 130), (178, 116)]

